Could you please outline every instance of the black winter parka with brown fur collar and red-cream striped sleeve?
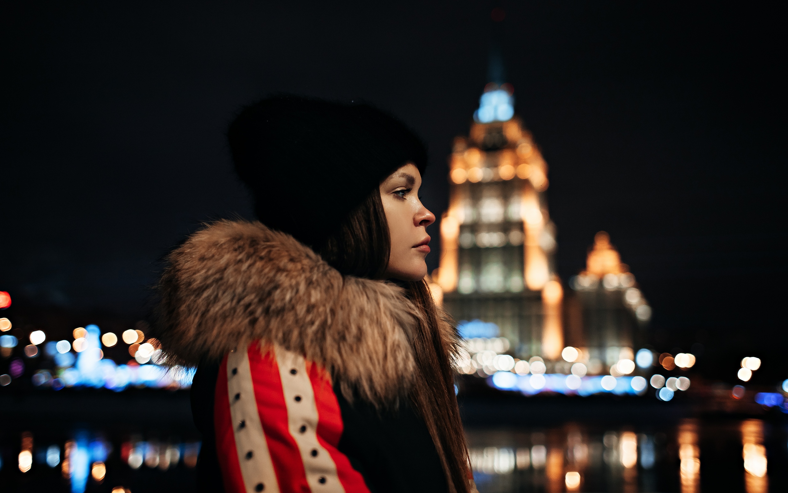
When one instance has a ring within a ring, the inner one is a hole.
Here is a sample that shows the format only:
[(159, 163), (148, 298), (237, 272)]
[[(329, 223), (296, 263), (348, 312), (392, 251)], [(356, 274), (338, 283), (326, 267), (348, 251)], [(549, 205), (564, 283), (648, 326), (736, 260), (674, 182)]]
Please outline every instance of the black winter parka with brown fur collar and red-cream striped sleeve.
[[(200, 491), (448, 491), (407, 398), (422, 315), (403, 289), (261, 223), (214, 223), (168, 260), (158, 335), (171, 364), (199, 365)], [(440, 337), (455, 351), (452, 326)]]

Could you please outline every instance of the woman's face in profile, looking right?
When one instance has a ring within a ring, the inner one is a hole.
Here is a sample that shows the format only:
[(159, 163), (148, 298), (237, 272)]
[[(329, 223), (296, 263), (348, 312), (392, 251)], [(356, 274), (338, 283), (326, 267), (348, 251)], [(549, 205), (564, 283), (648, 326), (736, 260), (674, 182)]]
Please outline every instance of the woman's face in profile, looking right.
[(381, 201), (391, 235), (387, 278), (419, 281), (427, 274), (424, 259), (429, 253), (429, 234), (426, 227), (435, 222), (435, 215), (419, 200), (420, 186), (422, 175), (413, 164), (400, 167), (381, 183)]

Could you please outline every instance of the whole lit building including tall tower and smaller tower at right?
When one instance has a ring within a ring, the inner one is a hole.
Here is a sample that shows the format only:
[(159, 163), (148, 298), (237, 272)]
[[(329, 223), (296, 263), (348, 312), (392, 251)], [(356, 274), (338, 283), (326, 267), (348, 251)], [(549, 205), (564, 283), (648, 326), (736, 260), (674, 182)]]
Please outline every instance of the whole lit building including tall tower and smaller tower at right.
[[(448, 178), (433, 289), (468, 340), (463, 371), (522, 374), (517, 362), (525, 369), (539, 361), (542, 373), (632, 373), (651, 308), (604, 232), (564, 299), (548, 167), (515, 116), (511, 85), (485, 86), (469, 136), (455, 138)], [(513, 357), (495, 359), (502, 353)], [(622, 373), (616, 364), (623, 359)], [(580, 366), (571, 370), (574, 363)]]

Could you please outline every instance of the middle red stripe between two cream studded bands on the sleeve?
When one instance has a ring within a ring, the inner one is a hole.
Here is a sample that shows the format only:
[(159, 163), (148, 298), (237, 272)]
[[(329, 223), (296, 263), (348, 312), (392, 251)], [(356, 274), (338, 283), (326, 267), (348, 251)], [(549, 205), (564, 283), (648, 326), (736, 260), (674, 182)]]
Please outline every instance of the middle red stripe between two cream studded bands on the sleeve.
[(266, 433), (273, 470), (277, 473), (279, 491), (281, 493), (310, 491), (298, 444), (290, 435), (288, 407), (284, 403), (279, 366), (273, 351), (262, 355), (258, 344), (250, 344), (248, 355), (257, 409), (260, 413), (262, 429)]

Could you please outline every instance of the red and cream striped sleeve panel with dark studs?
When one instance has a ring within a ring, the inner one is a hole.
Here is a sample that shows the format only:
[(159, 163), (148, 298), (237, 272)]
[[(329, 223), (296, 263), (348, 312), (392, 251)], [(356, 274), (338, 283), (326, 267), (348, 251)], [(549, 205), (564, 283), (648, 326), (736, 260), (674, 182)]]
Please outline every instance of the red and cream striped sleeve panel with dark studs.
[(258, 343), (221, 362), (216, 448), (227, 493), (369, 493), (337, 450), (343, 423), (325, 370)]

